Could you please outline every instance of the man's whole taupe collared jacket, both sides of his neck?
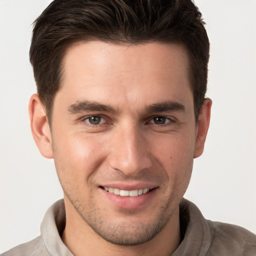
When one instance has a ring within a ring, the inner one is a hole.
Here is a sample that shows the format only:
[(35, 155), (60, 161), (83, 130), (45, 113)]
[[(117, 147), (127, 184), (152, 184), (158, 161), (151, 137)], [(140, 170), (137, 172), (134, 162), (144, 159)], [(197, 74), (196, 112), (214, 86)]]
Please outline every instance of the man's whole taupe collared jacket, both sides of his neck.
[[(186, 199), (182, 199), (179, 209), (182, 241), (171, 256), (256, 256), (255, 234), (240, 226), (206, 220)], [(40, 236), (2, 256), (72, 256), (60, 237), (64, 227), (65, 208), (61, 199), (46, 211)]]

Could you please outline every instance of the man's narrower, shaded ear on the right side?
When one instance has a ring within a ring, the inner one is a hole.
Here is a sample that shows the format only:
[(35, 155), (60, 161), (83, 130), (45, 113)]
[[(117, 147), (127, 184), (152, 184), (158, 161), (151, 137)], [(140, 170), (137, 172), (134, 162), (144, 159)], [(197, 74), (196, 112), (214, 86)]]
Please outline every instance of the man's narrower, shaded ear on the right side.
[(212, 101), (209, 98), (205, 98), (201, 111), (197, 120), (196, 127), (196, 139), (194, 148), (194, 158), (200, 156), (203, 152), (204, 142), (206, 139), (207, 131), (210, 123), (210, 108)]

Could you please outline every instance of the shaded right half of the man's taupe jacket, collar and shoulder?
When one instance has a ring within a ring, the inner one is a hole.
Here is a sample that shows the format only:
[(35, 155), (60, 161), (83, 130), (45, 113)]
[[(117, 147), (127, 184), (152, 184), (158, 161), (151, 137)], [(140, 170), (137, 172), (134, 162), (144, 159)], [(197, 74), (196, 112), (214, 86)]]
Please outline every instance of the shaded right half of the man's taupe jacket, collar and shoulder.
[(184, 238), (173, 256), (256, 256), (255, 234), (240, 226), (205, 219), (186, 199), (180, 203), (180, 221)]

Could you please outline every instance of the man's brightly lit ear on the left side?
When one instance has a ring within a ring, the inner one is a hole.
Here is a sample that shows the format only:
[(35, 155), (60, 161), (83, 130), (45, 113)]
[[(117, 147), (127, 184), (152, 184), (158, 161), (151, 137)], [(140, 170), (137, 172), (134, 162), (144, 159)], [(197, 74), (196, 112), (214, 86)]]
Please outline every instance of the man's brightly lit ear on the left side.
[(32, 135), (40, 153), (46, 158), (53, 158), (50, 127), (44, 105), (38, 94), (33, 94), (30, 97), (28, 112)]

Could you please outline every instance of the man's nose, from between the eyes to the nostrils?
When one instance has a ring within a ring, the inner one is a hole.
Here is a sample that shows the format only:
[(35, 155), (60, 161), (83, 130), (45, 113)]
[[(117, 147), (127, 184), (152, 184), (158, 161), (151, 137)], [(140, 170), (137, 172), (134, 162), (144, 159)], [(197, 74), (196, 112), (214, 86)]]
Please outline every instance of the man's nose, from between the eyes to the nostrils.
[(123, 125), (113, 133), (108, 158), (112, 168), (134, 176), (152, 165), (146, 134), (142, 134), (136, 125)]

